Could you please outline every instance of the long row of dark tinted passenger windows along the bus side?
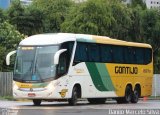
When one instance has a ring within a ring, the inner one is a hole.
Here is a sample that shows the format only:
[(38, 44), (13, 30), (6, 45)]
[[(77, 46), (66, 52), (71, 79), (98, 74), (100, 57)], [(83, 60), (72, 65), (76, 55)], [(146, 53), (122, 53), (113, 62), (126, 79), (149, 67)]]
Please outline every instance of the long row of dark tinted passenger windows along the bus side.
[(74, 62), (148, 64), (151, 60), (151, 49), (78, 42)]

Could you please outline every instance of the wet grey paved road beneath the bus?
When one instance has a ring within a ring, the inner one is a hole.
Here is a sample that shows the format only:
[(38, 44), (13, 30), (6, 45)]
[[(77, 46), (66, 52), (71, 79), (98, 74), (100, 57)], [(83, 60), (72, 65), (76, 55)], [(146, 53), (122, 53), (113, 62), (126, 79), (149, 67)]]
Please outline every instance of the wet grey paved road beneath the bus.
[(160, 115), (160, 100), (139, 101), (137, 104), (107, 101), (98, 105), (82, 101), (77, 106), (65, 102), (43, 102), (37, 107), (32, 102), (0, 101), (0, 108), (0, 115)]

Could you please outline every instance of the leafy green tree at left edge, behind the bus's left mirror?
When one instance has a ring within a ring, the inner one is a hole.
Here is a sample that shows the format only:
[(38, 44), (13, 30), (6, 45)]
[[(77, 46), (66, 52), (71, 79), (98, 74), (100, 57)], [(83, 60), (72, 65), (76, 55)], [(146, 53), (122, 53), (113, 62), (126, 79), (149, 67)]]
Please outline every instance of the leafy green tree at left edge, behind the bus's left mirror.
[[(24, 35), (20, 34), (14, 26), (8, 22), (0, 24), (0, 71), (9, 71), (13, 69), (12, 66), (7, 67), (5, 58), (8, 52), (15, 50), (18, 43), (24, 38)], [(12, 59), (13, 60), (13, 59)]]

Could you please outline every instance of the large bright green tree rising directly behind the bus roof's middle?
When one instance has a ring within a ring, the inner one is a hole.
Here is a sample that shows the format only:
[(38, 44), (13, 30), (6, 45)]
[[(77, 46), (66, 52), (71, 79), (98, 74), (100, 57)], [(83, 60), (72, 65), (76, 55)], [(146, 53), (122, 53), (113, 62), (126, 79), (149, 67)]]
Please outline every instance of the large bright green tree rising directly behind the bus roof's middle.
[(131, 10), (116, 0), (88, 0), (71, 9), (61, 25), (64, 32), (105, 35), (125, 39)]

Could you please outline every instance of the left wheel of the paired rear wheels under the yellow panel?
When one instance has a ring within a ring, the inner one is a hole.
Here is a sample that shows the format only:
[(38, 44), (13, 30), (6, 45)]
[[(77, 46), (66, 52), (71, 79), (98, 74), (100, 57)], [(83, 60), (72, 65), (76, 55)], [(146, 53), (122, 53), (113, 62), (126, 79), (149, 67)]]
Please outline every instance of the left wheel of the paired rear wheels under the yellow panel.
[(124, 103), (131, 102), (132, 95), (133, 95), (133, 91), (132, 91), (131, 87), (127, 86), (126, 90), (125, 90)]

